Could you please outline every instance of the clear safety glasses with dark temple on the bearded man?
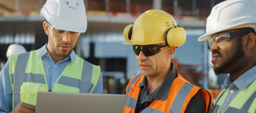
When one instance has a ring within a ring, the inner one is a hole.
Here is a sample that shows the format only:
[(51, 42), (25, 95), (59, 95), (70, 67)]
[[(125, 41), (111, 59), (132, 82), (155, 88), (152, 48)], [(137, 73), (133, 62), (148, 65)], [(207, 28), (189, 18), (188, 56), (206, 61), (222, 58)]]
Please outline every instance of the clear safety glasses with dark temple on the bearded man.
[(213, 43), (216, 46), (220, 46), (225, 44), (229, 39), (236, 38), (237, 36), (241, 36), (241, 35), (247, 35), (247, 34), (249, 34), (249, 32), (248, 33), (244, 33), (244, 32), (217, 33), (217, 34), (214, 34), (211, 37), (211, 39), (208, 40), (208, 44), (210, 48), (213, 45)]

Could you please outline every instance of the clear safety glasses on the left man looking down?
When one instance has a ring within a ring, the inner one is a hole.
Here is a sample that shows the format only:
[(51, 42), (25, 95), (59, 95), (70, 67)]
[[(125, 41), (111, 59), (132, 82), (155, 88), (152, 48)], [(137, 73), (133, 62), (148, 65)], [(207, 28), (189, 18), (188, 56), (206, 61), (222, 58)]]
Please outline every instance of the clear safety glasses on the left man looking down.
[(70, 36), (78, 36), (81, 33), (80, 32), (72, 32), (72, 31), (66, 31), (66, 30), (58, 30), (56, 28), (54, 28), (49, 22), (47, 22), (49, 25), (49, 29), (51, 30), (52, 27), (52, 31), (54, 32), (54, 34), (56, 34), (57, 36), (64, 36), (67, 32), (69, 32)]

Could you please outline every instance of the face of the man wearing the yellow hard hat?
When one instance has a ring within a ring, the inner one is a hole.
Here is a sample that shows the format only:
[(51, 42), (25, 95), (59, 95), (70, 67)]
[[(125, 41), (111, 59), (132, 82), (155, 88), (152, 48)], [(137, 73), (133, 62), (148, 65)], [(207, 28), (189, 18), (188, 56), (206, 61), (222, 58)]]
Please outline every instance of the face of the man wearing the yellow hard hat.
[[(162, 44), (155, 44), (156, 46), (162, 46)], [(144, 51), (152, 51), (151, 53), (154, 54), (150, 56), (150, 54), (145, 54), (140, 51), (138, 55), (136, 55), (137, 63), (142, 75), (145, 76), (156, 76), (159, 75), (164, 67), (167, 64), (167, 60), (170, 59), (168, 57), (168, 51), (171, 47), (169, 46), (162, 46), (162, 48), (147, 48), (152, 45), (134, 45), (133, 48), (141, 49), (143, 48)], [(153, 45), (154, 46), (154, 45)], [(146, 49), (145, 49), (146, 48)], [(160, 49), (160, 52), (159, 52)], [(159, 53), (157, 53), (157, 51)], [(146, 56), (145, 56), (146, 55)], [(147, 57), (148, 56), (148, 57)]]

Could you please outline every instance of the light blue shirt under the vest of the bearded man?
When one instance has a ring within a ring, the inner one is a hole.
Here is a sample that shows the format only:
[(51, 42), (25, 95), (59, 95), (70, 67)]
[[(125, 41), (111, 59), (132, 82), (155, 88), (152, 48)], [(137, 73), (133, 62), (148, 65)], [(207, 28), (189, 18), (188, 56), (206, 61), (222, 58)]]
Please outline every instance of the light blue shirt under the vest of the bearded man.
[(236, 79), (234, 82), (232, 80), (231, 76), (228, 76), (224, 80), (224, 85), (226, 87), (229, 87), (229, 92), (227, 97), (225, 98), (220, 113), (223, 113), (224, 110), (228, 107), (230, 102), (235, 98), (235, 96), (242, 91), (245, 87), (250, 85), (253, 81), (256, 80), (256, 65), (246, 71), (244, 74), (242, 74), (238, 79)]

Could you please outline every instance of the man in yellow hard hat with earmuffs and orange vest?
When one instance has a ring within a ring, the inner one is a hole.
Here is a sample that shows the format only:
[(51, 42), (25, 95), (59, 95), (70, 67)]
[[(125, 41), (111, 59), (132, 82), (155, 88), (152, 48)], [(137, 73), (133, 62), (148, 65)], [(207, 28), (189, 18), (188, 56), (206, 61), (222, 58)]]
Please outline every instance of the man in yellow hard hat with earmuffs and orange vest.
[(132, 45), (140, 69), (123, 92), (124, 113), (208, 112), (209, 92), (187, 82), (171, 63), (186, 33), (170, 14), (148, 10), (124, 29), (124, 37), (123, 44)]

